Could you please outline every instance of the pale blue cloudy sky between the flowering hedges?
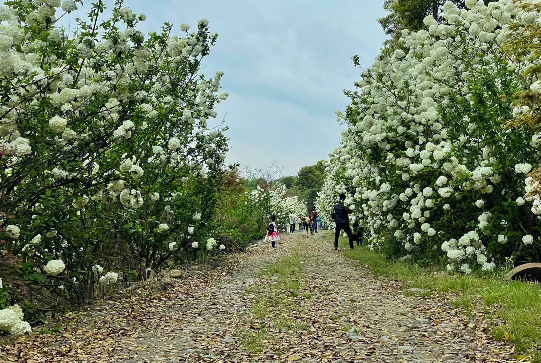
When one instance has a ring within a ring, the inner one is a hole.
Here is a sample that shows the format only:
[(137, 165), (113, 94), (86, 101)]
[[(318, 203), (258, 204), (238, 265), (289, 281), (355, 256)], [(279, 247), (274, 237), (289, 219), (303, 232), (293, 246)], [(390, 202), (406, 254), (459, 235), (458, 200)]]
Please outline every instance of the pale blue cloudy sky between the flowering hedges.
[[(112, 0), (105, 0), (109, 5)], [(227, 101), (216, 108), (225, 117), (230, 151), (227, 162), (263, 168), (272, 162), (295, 174), (305, 165), (328, 159), (344, 129), (334, 111), (344, 110), (342, 89), (352, 89), (359, 70), (351, 56), (368, 66), (385, 34), (377, 19), (383, 0), (348, 1), (215, 1), (126, 0), (144, 12), (142, 30), (158, 30), (163, 22), (179, 29), (209, 19), (219, 34), (204, 60), (204, 74), (222, 70)], [(63, 19), (75, 25), (77, 10)], [(65, 24), (67, 25), (67, 24)]]

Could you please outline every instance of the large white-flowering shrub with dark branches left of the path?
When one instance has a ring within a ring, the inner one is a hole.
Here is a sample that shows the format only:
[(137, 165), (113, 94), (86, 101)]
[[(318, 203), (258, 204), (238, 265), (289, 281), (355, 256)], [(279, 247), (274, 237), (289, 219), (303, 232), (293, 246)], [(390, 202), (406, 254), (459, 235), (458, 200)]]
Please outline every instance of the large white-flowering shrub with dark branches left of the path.
[(208, 21), (143, 34), (144, 14), (116, 1), (102, 19), (97, 0), (70, 35), (57, 19), (72, 0), (5, 5), (0, 250), (21, 262), (17, 272), (84, 303), (98, 282), (159, 268), (213, 237), (228, 147), (227, 128), (209, 119), (228, 95), (222, 72), (201, 74), (217, 38)]

